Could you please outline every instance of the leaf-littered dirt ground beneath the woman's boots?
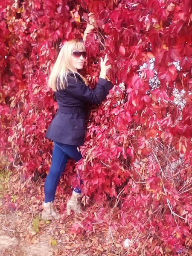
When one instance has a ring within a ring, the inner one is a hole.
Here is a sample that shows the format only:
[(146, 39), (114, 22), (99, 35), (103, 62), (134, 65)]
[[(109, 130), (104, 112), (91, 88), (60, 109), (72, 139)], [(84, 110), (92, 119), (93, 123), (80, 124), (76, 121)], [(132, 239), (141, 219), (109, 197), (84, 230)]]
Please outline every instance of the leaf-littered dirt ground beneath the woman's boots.
[[(0, 176), (0, 256), (116, 256), (127, 249), (122, 228), (111, 226), (109, 236), (108, 208), (95, 203), (85, 213), (66, 214), (71, 189), (58, 191), (55, 206), (61, 213), (58, 221), (41, 220), (44, 183), (22, 180), (15, 175)], [(59, 194), (60, 193), (60, 194)], [(110, 210), (110, 209), (109, 209)], [(114, 218), (120, 221), (113, 210)], [(112, 224), (111, 224), (112, 225)], [(128, 229), (128, 227), (124, 227)], [(121, 233), (119, 233), (121, 232)], [(137, 256), (137, 254), (135, 254)]]

